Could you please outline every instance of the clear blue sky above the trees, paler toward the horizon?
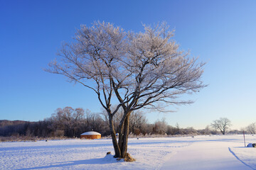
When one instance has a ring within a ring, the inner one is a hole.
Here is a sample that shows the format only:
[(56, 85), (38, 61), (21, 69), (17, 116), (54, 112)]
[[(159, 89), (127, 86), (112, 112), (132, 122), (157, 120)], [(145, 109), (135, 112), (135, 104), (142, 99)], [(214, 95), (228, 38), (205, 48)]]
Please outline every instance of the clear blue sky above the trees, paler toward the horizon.
[(183, 50), (207, 62), (209, 84), (174, 113), (146, 113), (150, 123), (205, 128), (220, 117), (233, 129), (256, 122), (256, 1), (11, 1), (0, 0), (0, 120), (43, 120), (56, 108), (100, 112), (89, 89), (43, 71), (80, 24), (107, 21), (142, 31), (166, 21)]

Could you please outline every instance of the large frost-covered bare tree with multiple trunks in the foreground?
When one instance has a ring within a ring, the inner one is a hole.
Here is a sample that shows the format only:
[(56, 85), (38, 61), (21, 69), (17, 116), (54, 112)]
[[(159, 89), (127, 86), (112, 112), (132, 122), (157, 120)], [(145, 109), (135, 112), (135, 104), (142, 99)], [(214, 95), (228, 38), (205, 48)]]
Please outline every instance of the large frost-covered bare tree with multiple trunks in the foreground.
[[(178, 50), (173, 36), (174, 31), (169, 31), (166, 23), (153, 28), (144, 26), (143, 33), (125, 32), (105, 22), (95, 22), (91, 27), (82, 25), (75, 42), (65, 43), (60, 50), (61, 60), (50, 62), (46, 69), (95, 91), (108, 114), (114, 157), (128, 155), (129, 118), (133, 111), (163, 111), (164, 103), (193, 103), (177, 98), (205, 87), (201, 81), (204, 63)], [(117, 103), (113, 103), (113, 97)], [(116, 107), (111, 108), (114, 104)], [(119, 108), (124, 115), (117, 141), (113, 118)]]

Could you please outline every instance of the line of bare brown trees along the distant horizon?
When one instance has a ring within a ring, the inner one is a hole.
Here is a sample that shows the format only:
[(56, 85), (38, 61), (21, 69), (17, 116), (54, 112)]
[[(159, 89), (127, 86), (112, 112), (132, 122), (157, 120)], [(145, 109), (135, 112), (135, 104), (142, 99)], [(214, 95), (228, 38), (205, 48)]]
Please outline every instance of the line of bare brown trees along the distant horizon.
[[(114, 118), (114, 127), (118, 128), (119, 119), (122, 118), (122, 112), (117, 113)], [(230, 125), (230, 120), (225, 120), (224, 131)], [(148, 123), (146, 115), (140, 111), (132, 113), (129, 122), (129, 132), (131, 135), (215, 135), (223, 134), (220, 125), (221, 121), (214, 120), (203, 130), (194, 128), (180, 128), (178, 123), (175, 126), (168, 125), (165, 119), (156, 120), (155, 123)], [(27, 136), (27, 137), (80, 137), (82, 132), (96, 131), (102, 136), (109, 136), (109, 121), (107, 113), (92, 113), (83, 108), (58, 108), (50, 118), (38, 122), (27, 122), (21, 120), (0, 120), (0, 136)], [(218, 131), (220, 130), (220, 132)], [(232, 130), (228, 133), (241, 134), (243, 130)], [(245, 132), (255, 134), (256, 123), (252, 123), (245, 128)]]

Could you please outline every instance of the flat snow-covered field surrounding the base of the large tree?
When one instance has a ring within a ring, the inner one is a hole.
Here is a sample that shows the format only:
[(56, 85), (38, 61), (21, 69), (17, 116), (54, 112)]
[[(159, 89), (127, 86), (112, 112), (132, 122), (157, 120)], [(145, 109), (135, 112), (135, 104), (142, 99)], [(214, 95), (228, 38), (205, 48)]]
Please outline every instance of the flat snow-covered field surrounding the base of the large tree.
[[(246, 143), (256, 135), (245, 135)], [(112, 140), (0, 142), (0, 169), (256, 169), (242, 135), (129, 139), (136, 162), (117, 162)]]

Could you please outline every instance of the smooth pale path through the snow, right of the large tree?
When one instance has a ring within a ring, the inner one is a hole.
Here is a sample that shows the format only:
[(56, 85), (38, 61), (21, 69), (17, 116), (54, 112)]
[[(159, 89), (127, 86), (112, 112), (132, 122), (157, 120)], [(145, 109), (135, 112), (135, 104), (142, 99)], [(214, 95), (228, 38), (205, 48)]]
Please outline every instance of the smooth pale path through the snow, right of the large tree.
[(234, 142), (195, 142), (186, 149), (176, 148), (173, 155), (162, 167), (161, 170), (252, 170), (252, 166), (241, 162), (230, 149), (230, 146), (237, 146)]

